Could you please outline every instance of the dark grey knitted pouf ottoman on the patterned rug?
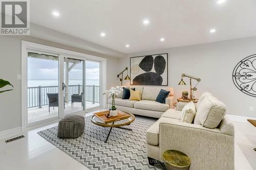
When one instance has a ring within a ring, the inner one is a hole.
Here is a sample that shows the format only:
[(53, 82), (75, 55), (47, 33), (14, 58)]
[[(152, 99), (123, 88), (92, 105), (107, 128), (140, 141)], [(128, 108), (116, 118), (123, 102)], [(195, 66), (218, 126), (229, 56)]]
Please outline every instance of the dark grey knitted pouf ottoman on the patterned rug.
[(58, 135), (60, 138), (77, 138), (83, 134), (85, 122), (81, 115), (68, 115), (59, 121)]

